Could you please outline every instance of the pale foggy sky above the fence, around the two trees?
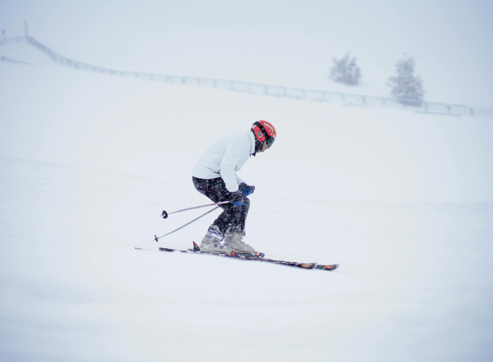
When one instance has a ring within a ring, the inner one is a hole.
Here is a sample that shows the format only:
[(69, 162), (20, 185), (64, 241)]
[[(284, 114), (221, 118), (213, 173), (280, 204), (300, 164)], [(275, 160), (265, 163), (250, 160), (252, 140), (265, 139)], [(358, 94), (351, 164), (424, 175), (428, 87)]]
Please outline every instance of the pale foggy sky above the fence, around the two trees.
[[(388, 96), (404, 53), (428, 101), (493, 106), (490, 1), (1, 1), (6, 36), (75, 60), (174, 75)], [(358, 58), (361, 86), (327, 79)]]

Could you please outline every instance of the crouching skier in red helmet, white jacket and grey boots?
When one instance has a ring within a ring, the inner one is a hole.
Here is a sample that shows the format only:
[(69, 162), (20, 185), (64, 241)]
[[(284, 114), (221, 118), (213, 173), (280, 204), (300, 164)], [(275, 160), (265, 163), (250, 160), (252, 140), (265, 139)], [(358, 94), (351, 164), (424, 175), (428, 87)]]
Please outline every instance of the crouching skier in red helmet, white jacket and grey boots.
[(209, 226), (200, 245), (201, 252), (253, 254), (254, 248), (244, 243), (246, 215), (250, 207), (249, 186), (236, 172), (251, 155), (268, 150), (275, 141), (275, 128), (258, 121), (249, 131), (230, 134), (213, 143), (201, 155), (192, 171), (192, 181), (199, 193), (213, 202), (230, 201), (220, 205), (223, 212)]

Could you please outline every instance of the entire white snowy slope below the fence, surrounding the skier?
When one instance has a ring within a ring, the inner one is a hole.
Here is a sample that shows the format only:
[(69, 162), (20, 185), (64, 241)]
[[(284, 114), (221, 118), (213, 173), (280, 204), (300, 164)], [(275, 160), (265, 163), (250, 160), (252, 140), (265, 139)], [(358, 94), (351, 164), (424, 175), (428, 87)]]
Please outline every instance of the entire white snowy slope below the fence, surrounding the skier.
[[(20, 45), (1, 55), (32, 65), (0, 63), (0, 360), (489, 361), (491, 118), (120, 79)], [(258, 119), (279, 136), (239, 172), (246, 242), (340, 269), (134, 250), (201, 240), (218, 212), (156, 243), (204, 209), (159, 215), (208, 202), (194, 162)]]

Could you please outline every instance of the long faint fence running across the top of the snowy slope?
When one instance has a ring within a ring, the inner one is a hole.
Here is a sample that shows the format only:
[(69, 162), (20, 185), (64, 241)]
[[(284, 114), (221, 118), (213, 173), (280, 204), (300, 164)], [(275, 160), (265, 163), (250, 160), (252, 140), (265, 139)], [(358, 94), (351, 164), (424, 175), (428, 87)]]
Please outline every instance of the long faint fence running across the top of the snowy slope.
[[(287, 86), (275, 86), (271, 84), (259, 84), (251, 82), (239, 82), (227, 79), (210, 79), (201, 77), (182, 77), (177, 75), (160, 75), (146, 72), (127, 72), (123, 70), (114, 70), (107, 67), (99, 67), (87, 63), (82, 63), (77, 60), (65, 58), (64, 56), (55, 53), (48, 46), (40, 43), (29, 35), (18, 37), (10, 37), (0, 40), (2, 44), (12, 44), (15, 42), (25, 41), (27, 44), (35, 46), (35, 48), (46, 53), (54, 61), (74, 67), (80, 70), (88, 70), (99, 72), (107, 75), (115, 75), (118, 77), (132, 77), (138, 79), (147, 79), (153, 82), (166, 82), (173, 84), (189, 84), (195, 86), (209, 86), (218, 89), (227, 89), (243, 93), (262, 94), (264, 96), (277, 96), (285, 98), (295, 98), (301, 100), (310, 100), (318, 102), (336, 103), (342, 105), (351, 105), (362, 108), (385, 107), (394, 109), (413, 110), (415, 112), (435, 113), (440, 115), (481, 115), (493, 117), (493, 108), (468, 107), (467, 105), (438, 103), (438, 102), (423, 102), (420, 107), (406, 106), (394, 98), (364, 96), (361, 94), (339, 93), (332, 91), (320, 91), (314, 89), (290, 88)], [(2, 57), (4, 60), (6, 57)], [(7, 61), (12, 61), (6, 58)], [(17, 63), (23, 63), (18, 62)]]

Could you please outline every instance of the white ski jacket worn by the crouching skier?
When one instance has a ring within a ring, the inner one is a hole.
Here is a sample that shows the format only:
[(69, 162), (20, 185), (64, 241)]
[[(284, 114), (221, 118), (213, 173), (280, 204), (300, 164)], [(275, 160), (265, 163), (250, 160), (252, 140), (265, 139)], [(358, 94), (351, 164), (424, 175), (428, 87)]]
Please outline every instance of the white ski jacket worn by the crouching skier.
[(236, 172), (243, 167), (255, 152), (255, 138), (252, 131), (230, 134), (216, 141), (199, 158), (192, 176), (199, 179), (222, 177), (230, 193), (238, 190), (242, 183)]

